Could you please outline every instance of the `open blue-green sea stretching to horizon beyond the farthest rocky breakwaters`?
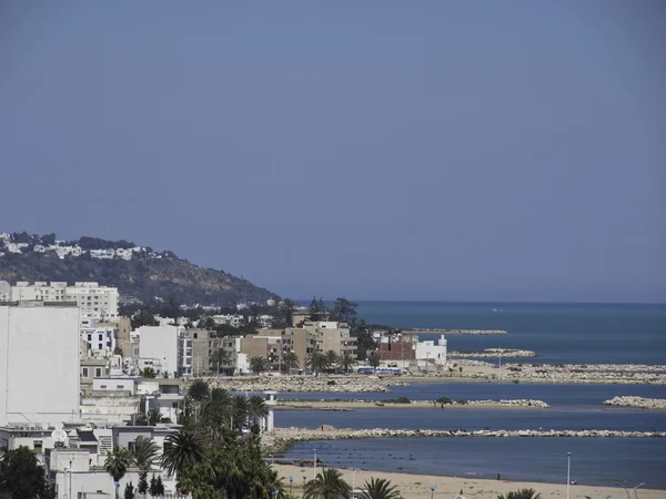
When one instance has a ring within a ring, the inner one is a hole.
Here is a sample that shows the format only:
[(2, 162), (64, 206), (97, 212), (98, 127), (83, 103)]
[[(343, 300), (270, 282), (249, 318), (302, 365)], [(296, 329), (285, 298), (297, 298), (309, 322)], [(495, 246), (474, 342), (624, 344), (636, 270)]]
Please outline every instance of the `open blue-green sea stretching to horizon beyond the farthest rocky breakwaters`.
[(524, 348), (539, 355), (529, 363), (666, 364), (666, 305), (361, 302), (359, 317), (404, 328), (506, 329), (450, 335), (448, 348)]

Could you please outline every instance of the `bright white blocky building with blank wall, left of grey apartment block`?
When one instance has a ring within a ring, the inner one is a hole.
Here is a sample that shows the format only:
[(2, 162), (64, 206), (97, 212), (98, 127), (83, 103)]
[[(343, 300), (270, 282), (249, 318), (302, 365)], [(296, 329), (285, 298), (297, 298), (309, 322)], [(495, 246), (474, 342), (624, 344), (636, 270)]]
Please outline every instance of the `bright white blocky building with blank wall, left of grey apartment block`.
[(185, 328), (178, 326), (141, 326), (137, 365), (150, 366), (159, 375), (170, 377), (192, 374), (192, 340), (185, 338)]

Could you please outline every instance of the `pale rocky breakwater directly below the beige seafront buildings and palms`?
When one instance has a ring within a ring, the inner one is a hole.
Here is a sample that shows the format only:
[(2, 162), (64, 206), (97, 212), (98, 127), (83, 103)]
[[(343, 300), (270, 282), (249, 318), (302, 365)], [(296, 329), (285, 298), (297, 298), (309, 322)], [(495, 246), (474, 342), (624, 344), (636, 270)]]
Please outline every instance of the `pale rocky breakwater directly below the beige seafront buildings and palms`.
[(385, 393), (391, 386), (405, 386), (393, 378), (369, 376), (252, 376), (215, 378), (212, 388), (229, 391), (330, 391), (330, 393)]

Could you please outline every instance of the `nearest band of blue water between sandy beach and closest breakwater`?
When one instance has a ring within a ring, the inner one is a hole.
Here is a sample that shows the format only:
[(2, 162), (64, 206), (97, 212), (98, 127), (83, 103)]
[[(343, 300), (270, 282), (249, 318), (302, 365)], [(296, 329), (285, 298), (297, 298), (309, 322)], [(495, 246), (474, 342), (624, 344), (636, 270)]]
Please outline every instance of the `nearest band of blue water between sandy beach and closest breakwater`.
[[(299, 442), (287, 459), (376, 471), (566, 483), (566, 452), (572, 480), (613, 487), (617, 480), (666, 489), (666, 441), (663, 439), (584, 438), (377, 438)], [(360, 480), (372, 473), (363, 472)], [(425, 485), (427, 486), (427, 483)], [(465, 490), (467, 497), (473, 490)], [(618, 498), (624, 490), (618, 489)]]

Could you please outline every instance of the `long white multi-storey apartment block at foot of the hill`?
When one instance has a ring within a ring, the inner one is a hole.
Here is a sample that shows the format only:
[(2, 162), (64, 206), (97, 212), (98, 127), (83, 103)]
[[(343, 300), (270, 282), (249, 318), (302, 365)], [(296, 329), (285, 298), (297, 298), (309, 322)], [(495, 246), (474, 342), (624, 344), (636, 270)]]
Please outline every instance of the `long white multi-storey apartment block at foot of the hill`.
[(38, 281), (18, 282), (11, 288), (11, 302), (74, 302), (81, 310), (82, 327), (93, 326), (92, 322), (117, 322), (119, 294), (118, 288), (100, 286), (98, 283), (74, 283), (68, 286), (63, 282)]

